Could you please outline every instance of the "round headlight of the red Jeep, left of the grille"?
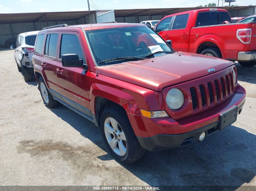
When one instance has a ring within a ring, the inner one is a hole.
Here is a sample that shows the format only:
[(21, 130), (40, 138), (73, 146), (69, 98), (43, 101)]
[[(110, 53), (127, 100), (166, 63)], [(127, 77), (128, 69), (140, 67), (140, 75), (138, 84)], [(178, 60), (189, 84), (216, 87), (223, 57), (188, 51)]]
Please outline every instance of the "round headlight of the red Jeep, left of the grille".
[(181, 108), (184, 103), (183, 93), (179, 89), (171, 89), (166, 96), (166, 103), (173, 110)]

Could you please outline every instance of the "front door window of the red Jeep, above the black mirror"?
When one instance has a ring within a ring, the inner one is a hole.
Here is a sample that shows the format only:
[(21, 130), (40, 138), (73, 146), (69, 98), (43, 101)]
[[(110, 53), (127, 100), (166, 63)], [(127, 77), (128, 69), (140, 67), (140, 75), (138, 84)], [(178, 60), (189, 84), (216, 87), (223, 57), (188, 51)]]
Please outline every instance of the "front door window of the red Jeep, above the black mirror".
[(80, 59), (83, 59), (83, 63), (86, 63), (78, 36), (76, 35), (62, 34), (60, 58), (63, 54), (77, 54)]

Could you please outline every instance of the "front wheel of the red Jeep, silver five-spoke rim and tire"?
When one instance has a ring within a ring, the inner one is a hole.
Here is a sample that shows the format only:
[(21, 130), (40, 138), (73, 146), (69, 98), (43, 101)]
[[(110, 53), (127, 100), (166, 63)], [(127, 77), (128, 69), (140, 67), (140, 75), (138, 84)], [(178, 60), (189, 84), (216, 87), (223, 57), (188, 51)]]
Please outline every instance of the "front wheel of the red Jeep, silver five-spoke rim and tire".
[(101, 132), (110, 153), (123, 164), (131, 164), (145, 153), (126, 113), (118, 106), (108, 107), (102, 112)]

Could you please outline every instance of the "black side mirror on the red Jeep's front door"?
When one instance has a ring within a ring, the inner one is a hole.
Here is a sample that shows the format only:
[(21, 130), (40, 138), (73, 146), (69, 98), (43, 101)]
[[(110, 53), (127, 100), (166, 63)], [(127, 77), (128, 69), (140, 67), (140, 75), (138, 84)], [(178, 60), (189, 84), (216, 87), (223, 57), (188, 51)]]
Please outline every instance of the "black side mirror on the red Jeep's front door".
[(64, 67), (87, 67), (87, 64), (84, 64), (77, 54), (62, 54), (61, 62)]

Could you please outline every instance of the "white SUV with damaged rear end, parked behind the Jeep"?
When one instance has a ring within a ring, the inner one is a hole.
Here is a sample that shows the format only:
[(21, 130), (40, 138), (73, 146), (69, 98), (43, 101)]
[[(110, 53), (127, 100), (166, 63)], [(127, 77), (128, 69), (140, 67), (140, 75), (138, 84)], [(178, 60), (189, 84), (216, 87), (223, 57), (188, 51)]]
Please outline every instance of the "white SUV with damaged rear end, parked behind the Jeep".
[(11, 45), (11, 49), (15, 49), (14, 58), (17, 63), (18, 71), (22, 71), (25, 81), (33, 79), (34, 69), (32, 64), (32, 56), (35, 47), (36, 35), (39, 31), (31, 31), (18, 35), (16, 45)]

